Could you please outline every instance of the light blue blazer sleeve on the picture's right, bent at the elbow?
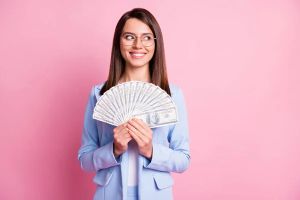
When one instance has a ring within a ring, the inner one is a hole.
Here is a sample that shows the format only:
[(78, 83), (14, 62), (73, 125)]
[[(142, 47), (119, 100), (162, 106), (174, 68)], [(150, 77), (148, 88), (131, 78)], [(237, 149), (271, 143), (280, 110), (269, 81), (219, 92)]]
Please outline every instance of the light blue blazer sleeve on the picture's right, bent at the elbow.
[(169, 147), (153, 143), (152, 159), (144, 157), (143, 166), (182, 173), (189, 166), (190, 153), (186, 106), (180, 87), (177, 88), (173, 101), (177, 107), (178, 123), (170, 125), (167, 137)]

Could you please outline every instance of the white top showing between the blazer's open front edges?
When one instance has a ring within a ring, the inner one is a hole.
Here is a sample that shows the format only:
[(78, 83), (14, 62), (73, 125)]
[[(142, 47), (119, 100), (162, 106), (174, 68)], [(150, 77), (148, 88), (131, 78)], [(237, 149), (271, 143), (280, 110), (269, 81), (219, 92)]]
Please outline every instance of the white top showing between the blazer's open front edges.
[(137, 185), (137, 156), (138, 156), (138, 148), (137, 143), (134, 139), (131, 139), (128, 142), (129, 148), (129, 163), (128, 163), (128, 186)]

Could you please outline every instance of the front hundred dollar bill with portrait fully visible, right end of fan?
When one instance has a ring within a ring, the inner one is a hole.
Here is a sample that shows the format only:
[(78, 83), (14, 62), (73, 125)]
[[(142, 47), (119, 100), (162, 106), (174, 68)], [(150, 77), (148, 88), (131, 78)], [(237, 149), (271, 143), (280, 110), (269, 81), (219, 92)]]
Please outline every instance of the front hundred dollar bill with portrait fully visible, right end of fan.
[(133, 117), (142, 120), (150, 128), (178, 123), (176, 106), (133, 114)]

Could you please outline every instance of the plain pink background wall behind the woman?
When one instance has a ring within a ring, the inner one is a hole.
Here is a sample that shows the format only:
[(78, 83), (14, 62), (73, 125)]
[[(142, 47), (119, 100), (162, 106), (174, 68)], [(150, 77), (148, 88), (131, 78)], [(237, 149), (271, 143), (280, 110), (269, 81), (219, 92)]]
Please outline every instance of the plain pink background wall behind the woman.
[(174, 199), (300, 199), (297, 0), (1, 0), (0, 199), (92, 199), (83, 113), (133, 7), (158, 20), (186, 99), (191, 163), (172, 173)]

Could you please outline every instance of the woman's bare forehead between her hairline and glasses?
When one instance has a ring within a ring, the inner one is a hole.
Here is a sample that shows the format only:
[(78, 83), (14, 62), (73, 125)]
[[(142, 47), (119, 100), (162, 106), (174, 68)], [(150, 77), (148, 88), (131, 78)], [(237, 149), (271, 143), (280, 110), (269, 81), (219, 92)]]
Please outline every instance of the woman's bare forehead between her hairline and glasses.
[(145, 24), (143, 21), (137, 19), (137, 18), (129, 18), (123, 27), (122, 34), (124, 32), (133, 32), (136, 35), (141, 35), (146, 32), (150, 32), (153, 34), (151, 31), (150, 27)]

